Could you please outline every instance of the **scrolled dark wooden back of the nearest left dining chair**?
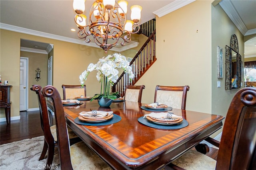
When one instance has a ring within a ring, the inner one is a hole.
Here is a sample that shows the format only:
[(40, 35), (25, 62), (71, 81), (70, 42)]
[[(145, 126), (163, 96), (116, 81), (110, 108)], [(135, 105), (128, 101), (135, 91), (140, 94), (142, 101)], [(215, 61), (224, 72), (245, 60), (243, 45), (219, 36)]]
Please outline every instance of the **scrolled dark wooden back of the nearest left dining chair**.
[(42, 94), (52, 100), (55, 110), (56, 131), (58, 139), (58, 151), (60, 155), (60, 166), (62, 170), (72, 170), (70, 160), (70, 149), (68, 140), (68, 131), (66, 126), (66, 119), (64, 115), (64, 108), (58, 90), (54, 86), (46, 86), (42, 89)]

